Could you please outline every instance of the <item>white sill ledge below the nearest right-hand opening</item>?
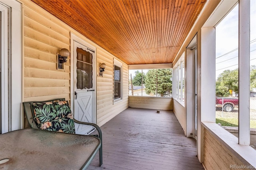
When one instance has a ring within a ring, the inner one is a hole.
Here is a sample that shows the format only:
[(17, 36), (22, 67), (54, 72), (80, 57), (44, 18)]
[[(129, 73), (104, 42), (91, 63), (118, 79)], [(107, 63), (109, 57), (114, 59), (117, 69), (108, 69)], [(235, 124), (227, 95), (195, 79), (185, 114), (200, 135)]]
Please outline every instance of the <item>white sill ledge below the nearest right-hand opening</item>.
[(256, 167), (256, 150), (254, 148), (238, 144), (238, 138), (236, 136), (216, 123), (201, 122), (201, 124), (245, 165)]

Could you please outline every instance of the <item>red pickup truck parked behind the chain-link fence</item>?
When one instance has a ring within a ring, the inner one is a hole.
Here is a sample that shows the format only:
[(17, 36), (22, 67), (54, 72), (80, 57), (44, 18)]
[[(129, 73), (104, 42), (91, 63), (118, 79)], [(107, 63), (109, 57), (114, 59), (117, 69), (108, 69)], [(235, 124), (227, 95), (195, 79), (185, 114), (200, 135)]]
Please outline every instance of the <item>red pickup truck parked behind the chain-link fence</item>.
[(223, 111), (232, 112), (238, 107), (238, 97), (216, 97), (216, 107), (223, 107)]

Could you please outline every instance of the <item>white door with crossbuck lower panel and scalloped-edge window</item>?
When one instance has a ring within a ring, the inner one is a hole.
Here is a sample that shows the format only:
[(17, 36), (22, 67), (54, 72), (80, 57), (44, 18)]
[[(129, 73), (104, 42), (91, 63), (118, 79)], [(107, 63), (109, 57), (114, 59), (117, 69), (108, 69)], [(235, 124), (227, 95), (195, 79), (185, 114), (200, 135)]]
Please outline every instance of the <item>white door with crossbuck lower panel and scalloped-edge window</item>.
[[(94, 51), (74, 41), (74, 118), (78, 121), (96, 123)], [(94, 127), (76, 126), (76, 133), (90, 134)]]

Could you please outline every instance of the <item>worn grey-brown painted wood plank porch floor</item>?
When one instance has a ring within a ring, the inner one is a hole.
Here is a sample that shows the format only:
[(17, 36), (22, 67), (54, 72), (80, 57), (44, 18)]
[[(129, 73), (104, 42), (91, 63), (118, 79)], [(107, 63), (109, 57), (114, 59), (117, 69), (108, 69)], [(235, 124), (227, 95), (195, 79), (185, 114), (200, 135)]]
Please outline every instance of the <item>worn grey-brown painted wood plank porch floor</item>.
[(202, 170), (196, 140), (186, 138), (172, 111), (128, 108), (101, 127), (98, 154), (89, 170)]

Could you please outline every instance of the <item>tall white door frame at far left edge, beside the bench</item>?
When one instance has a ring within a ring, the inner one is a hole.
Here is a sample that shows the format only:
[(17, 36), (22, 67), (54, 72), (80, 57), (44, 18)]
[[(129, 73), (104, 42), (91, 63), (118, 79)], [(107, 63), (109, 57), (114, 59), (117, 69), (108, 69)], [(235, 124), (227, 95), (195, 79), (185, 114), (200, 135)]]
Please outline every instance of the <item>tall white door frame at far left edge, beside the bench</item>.
[(22, 8), (0, 0), (0, 133), (22, 128)]

